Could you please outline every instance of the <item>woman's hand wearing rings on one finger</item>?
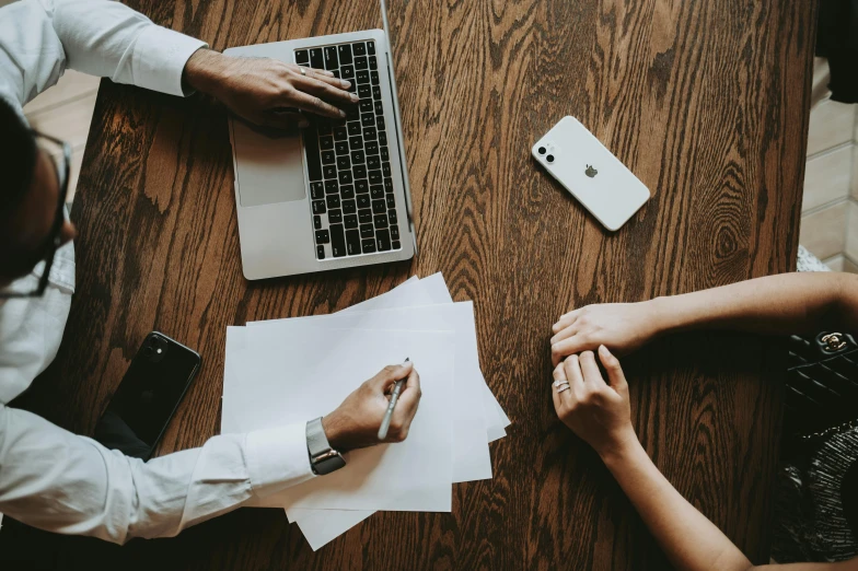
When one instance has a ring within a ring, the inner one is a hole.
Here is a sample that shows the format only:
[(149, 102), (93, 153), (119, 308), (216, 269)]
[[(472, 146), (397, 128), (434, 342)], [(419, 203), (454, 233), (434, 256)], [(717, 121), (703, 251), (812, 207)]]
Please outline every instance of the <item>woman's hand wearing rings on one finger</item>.
[[(593, 352), (584, 351), (555, 368), (552, 396), (563, 423), (604, 458), (636, 445), (638, 440), (631, 427), (628, 383), (619, 361), (605, 346), (599, 348), (599, 359), (607, 371), (608, 383), (602, 378)], [(569, 388), (564, 388), (567, 383)]]

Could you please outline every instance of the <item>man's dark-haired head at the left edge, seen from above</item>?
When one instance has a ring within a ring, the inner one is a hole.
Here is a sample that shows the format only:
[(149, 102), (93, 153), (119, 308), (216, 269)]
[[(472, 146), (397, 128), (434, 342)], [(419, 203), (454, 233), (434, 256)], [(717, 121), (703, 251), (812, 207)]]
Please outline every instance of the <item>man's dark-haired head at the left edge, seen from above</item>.
[[(26, 276), (51, 248), (62, 191), (55, 159), (14, 108), (0, 98), (0, 288)], [(65, 198), (65, 197), (63, 197)], [(74, 237), (65, 222), (60, 242)]]

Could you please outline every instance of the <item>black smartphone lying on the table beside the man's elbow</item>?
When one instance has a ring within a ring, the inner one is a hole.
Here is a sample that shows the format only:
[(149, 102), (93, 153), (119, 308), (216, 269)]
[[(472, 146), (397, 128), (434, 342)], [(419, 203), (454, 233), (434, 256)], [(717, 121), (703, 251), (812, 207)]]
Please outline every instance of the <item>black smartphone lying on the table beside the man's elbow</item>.
[(147, 335), (95, 426), (95, 440), (127, 456), (149, 459), (200, 362), (199, 353), (166, 335)]

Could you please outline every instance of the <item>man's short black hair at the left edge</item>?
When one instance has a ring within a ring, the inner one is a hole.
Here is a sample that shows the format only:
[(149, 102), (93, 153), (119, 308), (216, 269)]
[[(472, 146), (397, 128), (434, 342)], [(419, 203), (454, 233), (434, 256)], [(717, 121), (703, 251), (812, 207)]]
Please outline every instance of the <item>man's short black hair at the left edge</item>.
[(0, 97), (0, 224), (24, 200), (36, 172), (36, 155), (33, 131), (15, 108)]

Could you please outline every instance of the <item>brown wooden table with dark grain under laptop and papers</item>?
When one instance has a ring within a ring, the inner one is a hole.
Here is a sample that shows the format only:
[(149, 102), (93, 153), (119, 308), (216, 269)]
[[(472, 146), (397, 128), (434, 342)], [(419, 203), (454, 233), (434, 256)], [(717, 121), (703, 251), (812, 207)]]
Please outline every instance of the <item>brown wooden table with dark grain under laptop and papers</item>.
[[(374, 0), (139, 0), (215, 48), (380, 27)], [(554, 413), (549, 327), (795, 268), (813, 2), (391, 2), (420, 256), (242, 278), (222, 109), (103, 81), (72, 218), (78, 292), (55, 365), (20, 406), (91, 434), (151, 329), (204, 366), (160, 453), (217, 434), (224, 331), (324, 314), (443, 271), (474, 300), (483, 369), (513, 424), (495, 478), (453, 513), (381, 513), (313, 553), (282, 512), (241, 510), (117, 548), (7, 520), (0, 553), (54, 569), (664, 569), (599, 458)], [(531, 160), (577, 116), (651, 189), (606, 233)], [(767, 560), (784, 361), (750, 336), (663, 339), (626, 359), (638, 434), (665, 476)], [(62, 374), (60, 374), (62, 372)], [(10, 569), (4, 567), (4, 569)]]

